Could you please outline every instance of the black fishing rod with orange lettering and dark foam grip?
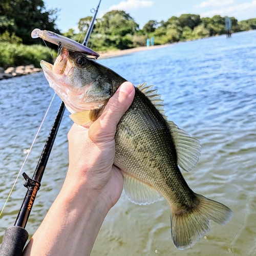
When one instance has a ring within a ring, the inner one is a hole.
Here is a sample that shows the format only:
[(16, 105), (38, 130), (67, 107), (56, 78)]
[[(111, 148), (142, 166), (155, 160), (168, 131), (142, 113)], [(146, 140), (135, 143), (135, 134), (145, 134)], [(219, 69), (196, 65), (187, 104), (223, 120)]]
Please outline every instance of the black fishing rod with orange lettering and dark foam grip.
[[(91, 20), (86, 37), (84, 38), (84, 41), (83, 41), (84, 46), (87, 46), (89, 37), (92, 33), (100, 2), (101, 0), (99, 1), (97, 8), (94, 9), (95, 10), (94, 16)], [(29, 218), (32, 206), (34, 204), (35, 197), (40, 188), (40, 182), (41, 182), (42, 176), (44, 175), (45, 168), (46, 168), (48, 159), (50, 157), (53, 143), (56, 138), (59, 125), (60, 125), (62, 116), (65, 112), (65, 109), (66, 109), (65, 104), (62, 101), (59, 106), (56, 117), (54, 119), (54, 122), (52, 124), (45, 146), (42, 150), (41, 156), (38, 160), (33, 177), (30, 178), (26, 173), (23, 173), (23, 177), (25, 178), (24, 186), (28, 188), (27, 193), (22, 203), (22, 206), (20, 207), (20, 210), (18, 212), (18, 216), (16, 218), (14, 226), (8, 227), (5, 230), (4, 239), (0, 247), (1, 256), (21, 256), (22, 255), (24, 246), (29, 237), (28, 231), (25, 229), (25, 227), (28, 222), (28, 218)]]

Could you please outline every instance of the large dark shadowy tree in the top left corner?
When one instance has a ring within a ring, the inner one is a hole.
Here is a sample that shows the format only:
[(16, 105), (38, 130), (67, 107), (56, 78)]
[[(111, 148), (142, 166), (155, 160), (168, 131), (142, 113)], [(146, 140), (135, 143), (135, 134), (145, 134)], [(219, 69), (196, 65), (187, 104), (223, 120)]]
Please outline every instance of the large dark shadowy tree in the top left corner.
[(34, 44), (31, 31), (35, 28), (59, 33), (55, 28), (57, 12), (57, 9), (47, 10), (42, 0), (1, 0), (1, 19), (6, 20), (10, 26), (1, 26), (0, 33), (14, 32), (22, 38), (24, 44)]

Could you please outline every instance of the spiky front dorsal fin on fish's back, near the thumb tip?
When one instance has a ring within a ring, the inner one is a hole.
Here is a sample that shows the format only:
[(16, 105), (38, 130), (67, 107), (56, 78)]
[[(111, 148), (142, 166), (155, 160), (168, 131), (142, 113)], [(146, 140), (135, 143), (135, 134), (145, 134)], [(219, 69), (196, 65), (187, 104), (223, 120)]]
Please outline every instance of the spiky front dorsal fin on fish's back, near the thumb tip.
[(164, 105), (163, 100), (161, 100), (161, 95), (157, 94), (157, 90), (153, 90), (153, 87), (154, 86), (147, 86), (145, 82), (137, 86), (137, 88), (151, 100), (164, 119), (167, 120), (167, 117), (164, 115)]

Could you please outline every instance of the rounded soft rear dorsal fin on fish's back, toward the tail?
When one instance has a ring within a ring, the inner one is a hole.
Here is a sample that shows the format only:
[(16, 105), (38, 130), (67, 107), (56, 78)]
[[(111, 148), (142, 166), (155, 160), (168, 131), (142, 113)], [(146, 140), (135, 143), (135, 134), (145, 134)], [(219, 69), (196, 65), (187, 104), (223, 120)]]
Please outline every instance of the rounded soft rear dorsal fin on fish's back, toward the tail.
[(201, 151), (200, 142), (190, 137), (174, 122), (167, 121), (167, 123), (174, 139), (178, 164), (186, 172), (189, 172), (197, 166)]

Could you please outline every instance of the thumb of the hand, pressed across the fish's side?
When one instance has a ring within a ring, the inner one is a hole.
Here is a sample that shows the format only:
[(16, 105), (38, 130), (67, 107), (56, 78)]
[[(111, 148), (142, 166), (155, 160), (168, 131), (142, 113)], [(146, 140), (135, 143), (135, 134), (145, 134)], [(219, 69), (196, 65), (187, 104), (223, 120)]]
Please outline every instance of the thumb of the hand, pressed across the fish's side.
[(134, 95), (134, 85), (131, 82), (122, 83), (115, 94), (109, 99), (102, 115), (91, 125), (89, 136), (93, 133), (94, 138), (98, 137), (100, 139), (101, 136), (110, 136), (110, 139), (113, 139), (116, 133), (116, 125), (127, 109), (129, 109)]

